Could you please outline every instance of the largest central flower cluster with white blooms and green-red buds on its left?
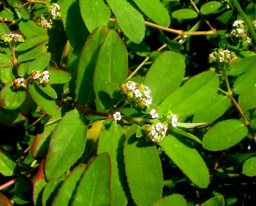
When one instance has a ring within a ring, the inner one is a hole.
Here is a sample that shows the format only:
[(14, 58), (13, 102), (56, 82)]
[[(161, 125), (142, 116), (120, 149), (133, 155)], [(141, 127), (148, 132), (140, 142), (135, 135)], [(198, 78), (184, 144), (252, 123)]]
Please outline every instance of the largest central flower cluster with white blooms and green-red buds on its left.
[(152, 104), (151, 90), (147, 86), (128, 81), (127, 83), (122, 83), (120, 88), (122, 94), (127, 95), (131, 101), (135, 101), (141, 109)]

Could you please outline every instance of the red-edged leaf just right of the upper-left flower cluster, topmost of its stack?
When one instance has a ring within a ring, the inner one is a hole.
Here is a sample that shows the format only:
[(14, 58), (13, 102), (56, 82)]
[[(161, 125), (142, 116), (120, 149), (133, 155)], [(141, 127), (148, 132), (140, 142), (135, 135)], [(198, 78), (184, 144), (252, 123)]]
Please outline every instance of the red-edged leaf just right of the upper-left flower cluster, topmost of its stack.
[(25, 39), (23, 43), (20, 43), (15, 50), (16, 51), (25, 51), (30, 48), (34, 48), (38, 45), (44, 44), (49, 40), (49, 36), (46, 34), (39, 34), (28, 39)]

